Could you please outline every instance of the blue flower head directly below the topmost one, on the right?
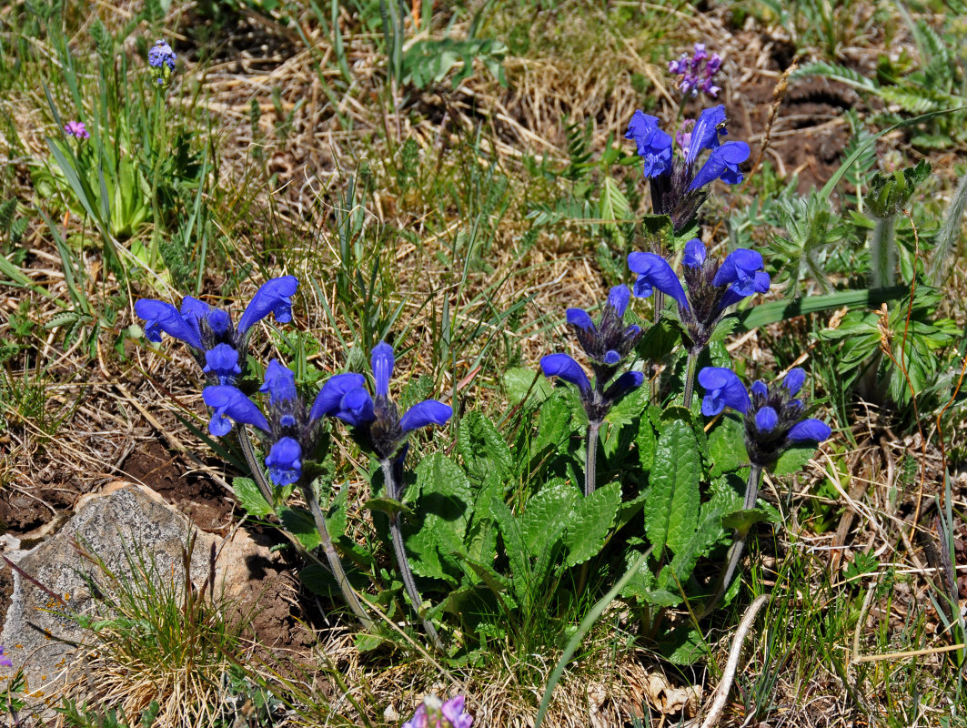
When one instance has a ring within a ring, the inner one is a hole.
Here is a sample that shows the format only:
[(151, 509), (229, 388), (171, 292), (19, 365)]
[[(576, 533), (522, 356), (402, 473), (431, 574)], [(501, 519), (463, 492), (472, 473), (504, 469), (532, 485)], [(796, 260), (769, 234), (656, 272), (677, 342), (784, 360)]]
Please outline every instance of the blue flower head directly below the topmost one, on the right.
[(685, 244), (682, 267), (686, 288), (668, 261), (652, 252), (632, 252), (628, 267), (638, 275), (634, 295), (648, 298), (658, 289), (678, 306), (678, 315), (688, 330), (686, 344), (693, 354), (704, 349), (716, 325), (729, 306), (754, 293), (769, 290), (769, 274), (762, 270), (762, 255), (748, 248), (737, 248), (725, 260), (710, 258), (697, 238)]

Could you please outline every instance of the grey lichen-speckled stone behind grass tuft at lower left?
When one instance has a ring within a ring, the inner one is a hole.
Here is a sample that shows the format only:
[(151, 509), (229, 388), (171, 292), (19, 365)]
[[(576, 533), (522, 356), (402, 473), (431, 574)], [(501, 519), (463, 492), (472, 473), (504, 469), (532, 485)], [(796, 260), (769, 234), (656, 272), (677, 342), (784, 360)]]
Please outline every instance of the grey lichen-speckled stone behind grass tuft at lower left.
[[(105, 616), (103, 603), (92, 596), (90, 588), (94, 583), (106, 589), (103, 569), (96, 561), (100, 559), (103, 568), (121, 579), (145, 578), (132, 575), (132, 564), (141, 564), (154, 571), (153, 578), (181, 585), (183, 549), (192, 534), (191, 583), (201, 589), (212, 579), (217, 597), (230, 597), (232, 589), (248, 585), (249, 564), (264, 564), (274, 556), (263, 553), (265, 549), (241, 529), (220, 539), (196, 529), (150, 488), (117, 482), (79, 503), (60, 531), (39, 545), (8, 550), (5, 556), (16, 565), (14, 595), (0, 644), (14, 667), (0, 667), (0, 678), (9, 679), (22, 667), (32, 707), (42, 717), (49, 717), (50, 707), (60, 704), (64, 686), (77, 677), (74, 668), (82, 669), (82, 656), (91, 642), (91, 633), (68, 616), (68, 611)], [(213, 555), (217, 557), (214, 578)]]

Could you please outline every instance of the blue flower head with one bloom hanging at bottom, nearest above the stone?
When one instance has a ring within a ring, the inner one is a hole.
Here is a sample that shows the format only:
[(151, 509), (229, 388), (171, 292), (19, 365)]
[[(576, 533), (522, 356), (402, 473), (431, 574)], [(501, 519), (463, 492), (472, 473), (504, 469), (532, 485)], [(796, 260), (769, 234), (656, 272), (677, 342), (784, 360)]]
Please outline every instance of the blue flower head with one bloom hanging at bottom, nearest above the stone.
[(269, 451), (265, 458), (269, 477), (278, 486), (291, 485), (298, 482), (302, 475), (304, 455), (318, 445), (320, 425), (322, 418), (329, 414), (327, 405), (333, 397), (334, 388), (341, 386), (345, 390), (359, 387), (363, 381), (358, 374), (331, 377), (307, 412), (296, 389), (296, 375), (287, 366), (272, 360), (265, 369), (263, 384), (259, 388), (259, 392), (266, 395), (264, 411), (232, 385), (210, 385), (205, 388), (202, 398), (212, 408), (208, 430), (216, 437), (222, 437), (231, 431), (233, 422), (256, 427), (261, 431)]

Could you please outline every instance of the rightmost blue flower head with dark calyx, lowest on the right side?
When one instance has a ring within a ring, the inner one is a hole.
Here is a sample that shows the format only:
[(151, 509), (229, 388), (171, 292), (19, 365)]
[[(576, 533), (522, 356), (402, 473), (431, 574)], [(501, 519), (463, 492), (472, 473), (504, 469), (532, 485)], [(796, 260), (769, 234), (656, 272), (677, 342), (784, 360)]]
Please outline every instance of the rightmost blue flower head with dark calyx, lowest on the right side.
[(833, 433), (826, 422), (804, 417), (806, 405), (797, 395), (805, 382), (806, 372), (797, 367), (781, 382), (767, 386), (756, 381), (747, 391), (731, 369), (706, 366), (698, 372), (705, 388), (702, 414), (714, 417), (728, 407), (745, 415), (749, 461), (768, 467), (792, 446), (821, 443)]

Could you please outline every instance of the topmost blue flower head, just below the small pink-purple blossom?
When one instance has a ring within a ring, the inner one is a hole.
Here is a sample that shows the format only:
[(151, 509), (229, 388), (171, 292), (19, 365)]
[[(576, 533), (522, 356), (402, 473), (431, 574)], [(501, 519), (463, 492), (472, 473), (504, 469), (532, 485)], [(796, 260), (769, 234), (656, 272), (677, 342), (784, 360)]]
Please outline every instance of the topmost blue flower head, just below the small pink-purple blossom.
[[(720, 141), (718, 137), (728, 133), (726, 122), (723, 105), (702, 111), (688, 137), (684, 131), (680, 134), (679, 157), (673, 154), (672, 137), (659, 129), (657, 117), (640, 110), (631, 117), (625, 138), (634, 140), (638, 156), (644, 160), (655, 214), (671, 218), (676, 234), (689, 228), (708, 197), (709, 185), (716, 180), (728, 185), (743, 181), (739, 165), (748, 159), (748, 145)], [(709, 155), (698, 166), (699, 155), (706, 150)]]

